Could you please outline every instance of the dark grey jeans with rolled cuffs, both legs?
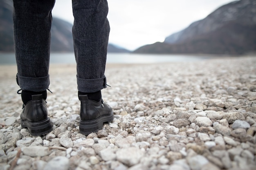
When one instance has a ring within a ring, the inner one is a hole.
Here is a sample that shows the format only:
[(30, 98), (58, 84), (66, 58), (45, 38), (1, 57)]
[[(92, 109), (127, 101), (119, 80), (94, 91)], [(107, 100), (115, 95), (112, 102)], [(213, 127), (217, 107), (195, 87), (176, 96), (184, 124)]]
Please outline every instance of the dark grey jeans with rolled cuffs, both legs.
[[(50, 30), (54, 3), (55, 0), (13, 0), (17, 79), (22, 90), (41, 92), (49, 87)], [(106, 88), (104, 72), (110, 31), (108, 2), (72, 0), (72, 8), (78, 90), (97, 92)]]

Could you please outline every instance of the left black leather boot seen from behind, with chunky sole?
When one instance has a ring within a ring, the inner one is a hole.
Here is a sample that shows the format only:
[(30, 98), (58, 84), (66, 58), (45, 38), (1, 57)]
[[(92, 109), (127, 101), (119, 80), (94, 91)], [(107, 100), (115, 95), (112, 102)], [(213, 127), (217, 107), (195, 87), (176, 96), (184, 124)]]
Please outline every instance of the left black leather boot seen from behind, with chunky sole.
[(52, 122), (42, 94), (32, 95), (32, 100), (23, 105), (20, 119), (21, 127), (27, 128), (31, 135), (40, 136), (52, 131)]

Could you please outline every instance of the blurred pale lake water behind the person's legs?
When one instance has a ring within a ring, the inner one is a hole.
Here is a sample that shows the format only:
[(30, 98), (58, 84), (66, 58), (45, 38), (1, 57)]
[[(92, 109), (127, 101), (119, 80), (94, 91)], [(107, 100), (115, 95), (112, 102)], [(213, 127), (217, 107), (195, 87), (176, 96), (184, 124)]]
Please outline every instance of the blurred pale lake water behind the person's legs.
[[(177, 54), (130, 54), (108, 53), (107, 63), (166, 63), (200, 61), (210, 59), (207, 55), (177, 55)], [(51, 53), (50, 63), (75, 64), (74, 53)], [(16, 64), (14, 53), (0, 53), (0, 64)]]

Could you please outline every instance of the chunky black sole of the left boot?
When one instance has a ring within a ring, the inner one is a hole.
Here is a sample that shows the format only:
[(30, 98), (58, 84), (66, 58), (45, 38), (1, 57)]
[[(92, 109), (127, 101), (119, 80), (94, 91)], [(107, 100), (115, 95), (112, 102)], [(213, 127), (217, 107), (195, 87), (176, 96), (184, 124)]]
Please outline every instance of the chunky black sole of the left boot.
[(33, 136), (45, 135), (52, 131), (52, 122), (49, 117), (40, 122), (29, 122), (28, 120), (21, 120), (20, 124), (22, 128), (26, 128)]

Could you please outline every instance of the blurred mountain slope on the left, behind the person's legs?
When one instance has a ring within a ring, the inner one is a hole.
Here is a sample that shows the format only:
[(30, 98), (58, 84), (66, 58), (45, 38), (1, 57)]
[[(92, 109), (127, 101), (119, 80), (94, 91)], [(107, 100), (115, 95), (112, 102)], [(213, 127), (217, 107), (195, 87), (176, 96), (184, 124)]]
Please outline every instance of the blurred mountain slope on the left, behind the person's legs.
[[(13, 1), (0, 0), (0, 52), (14, 52), (13, 46)], [(73, 52), (72, 24), (53, 17), (52, 19), (52, 43), (53, 52)], [(109, 52), (129, 52), (128, 50), (110, 44)]]

